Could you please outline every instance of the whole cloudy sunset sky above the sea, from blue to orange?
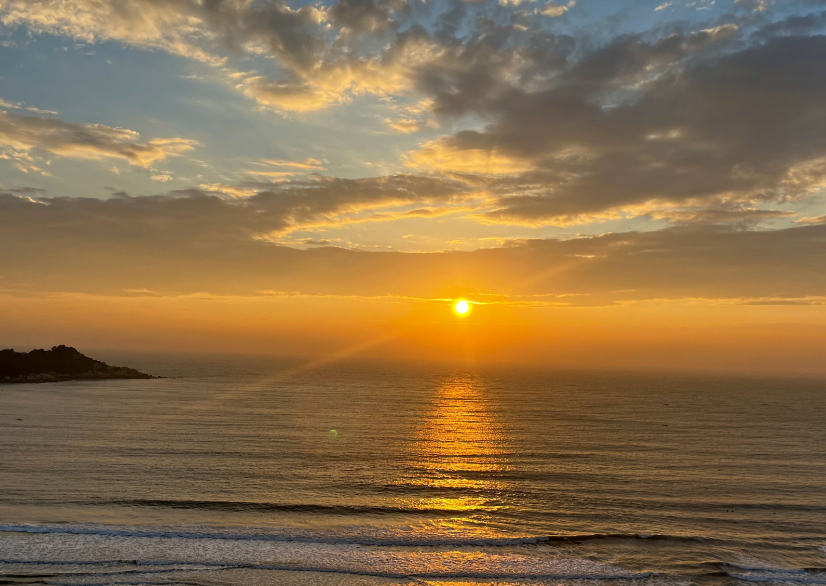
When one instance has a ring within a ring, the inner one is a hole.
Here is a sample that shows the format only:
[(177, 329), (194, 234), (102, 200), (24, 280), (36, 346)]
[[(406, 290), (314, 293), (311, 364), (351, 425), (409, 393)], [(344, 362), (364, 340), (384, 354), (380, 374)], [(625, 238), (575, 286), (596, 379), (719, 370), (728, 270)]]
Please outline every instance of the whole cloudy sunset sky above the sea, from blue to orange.
[(0, 0), (0, 342), (826, 372), (825, 35), (824, 0)]

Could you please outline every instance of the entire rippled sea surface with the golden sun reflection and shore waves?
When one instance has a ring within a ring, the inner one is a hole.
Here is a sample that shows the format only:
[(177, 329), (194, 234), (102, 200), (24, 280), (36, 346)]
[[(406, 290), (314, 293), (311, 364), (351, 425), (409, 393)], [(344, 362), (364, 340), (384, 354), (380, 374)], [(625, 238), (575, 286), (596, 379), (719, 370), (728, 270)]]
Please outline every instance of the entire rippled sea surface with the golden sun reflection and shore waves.
[(0, 584), (826, 584), (826, 381), (101, 355), (0, 386)]

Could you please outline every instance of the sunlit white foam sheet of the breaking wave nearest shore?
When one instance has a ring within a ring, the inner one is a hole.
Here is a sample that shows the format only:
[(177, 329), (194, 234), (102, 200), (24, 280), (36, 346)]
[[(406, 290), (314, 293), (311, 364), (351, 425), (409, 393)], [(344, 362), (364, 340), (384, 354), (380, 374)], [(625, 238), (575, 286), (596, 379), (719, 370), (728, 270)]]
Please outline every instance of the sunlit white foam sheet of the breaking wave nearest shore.
[[(67, 528), (71, 529), (71, 528)], [(376, 547), (357, 544), (63, 532), (6, 533), (5, 563), (199, 564), (384, 577), (622, 579), (646, 574), (590, 560), (545, 557), (496, 547)]]

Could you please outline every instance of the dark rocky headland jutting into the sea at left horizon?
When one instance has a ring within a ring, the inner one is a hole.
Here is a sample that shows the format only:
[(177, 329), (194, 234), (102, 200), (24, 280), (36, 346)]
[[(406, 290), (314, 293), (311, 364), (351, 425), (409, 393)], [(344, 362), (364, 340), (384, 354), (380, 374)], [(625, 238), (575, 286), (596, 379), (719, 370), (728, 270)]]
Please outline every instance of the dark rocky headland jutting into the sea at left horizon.
[(114, 378), (163, 378), (125, 366), (109, 366), (84, 356), (71, 346), (54, 346), (51, 350), (15, 352), (0, 350), (0, 384), (48, 383), (67, 380), (103, 380)]

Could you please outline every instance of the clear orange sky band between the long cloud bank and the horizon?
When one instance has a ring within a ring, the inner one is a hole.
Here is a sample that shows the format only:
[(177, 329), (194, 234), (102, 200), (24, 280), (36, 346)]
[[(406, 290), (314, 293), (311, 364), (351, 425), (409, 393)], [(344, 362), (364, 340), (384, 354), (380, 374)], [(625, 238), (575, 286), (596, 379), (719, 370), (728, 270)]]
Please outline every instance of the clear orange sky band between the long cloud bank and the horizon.
[(553, 366), (826, 372), (822, 306), (707, 300), (602, 307), (255, 296), (0, 297), (19, 348), (85, 348), (525, 362)]

